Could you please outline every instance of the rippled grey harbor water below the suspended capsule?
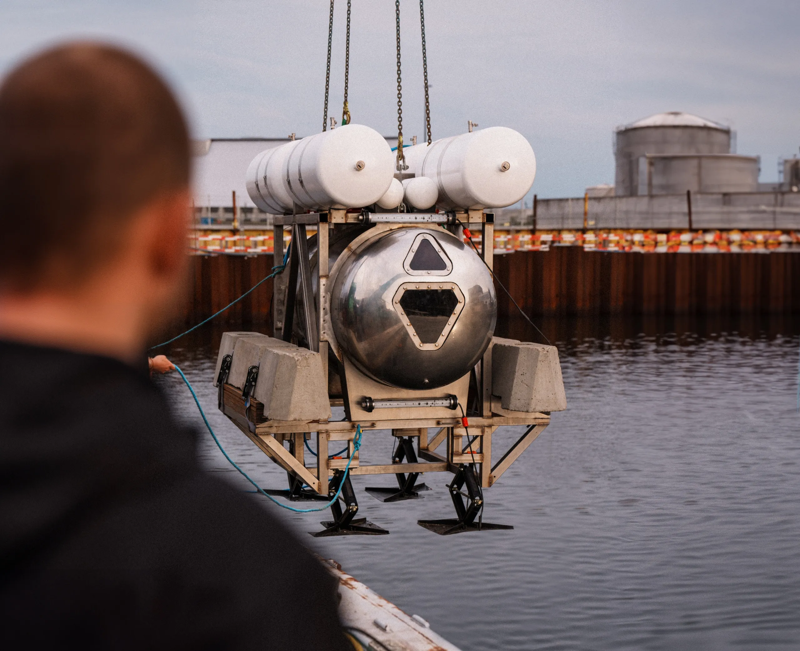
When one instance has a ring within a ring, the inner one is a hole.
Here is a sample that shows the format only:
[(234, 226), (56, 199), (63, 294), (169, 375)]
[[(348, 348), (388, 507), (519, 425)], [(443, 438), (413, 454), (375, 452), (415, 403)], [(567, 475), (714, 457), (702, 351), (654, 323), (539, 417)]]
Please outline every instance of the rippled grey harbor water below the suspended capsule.
[[(534, 339), (527, 327), (501, 323), (498, 334)], [(800, 324), (542, 327), (559, 348), (568, 409), (486, 490), (484, 520), (513, 531), (440, 537), (418, 526), (452, 517), (446, 473), (423, 476), (424, 498), (394, 504), (364, 491), (393, 476), (354, 477), (359, 514), (389, 536), (313, 538), (306, 532), (330, 512), (253, 499), (464, 651), (800, 647)], [(230, 456), (262, 486), (285, 488), (286, 473), (217, 410), (221, 333), (206, 326), (159, 352), (186, 372)], [(202, 465), (248, 489), (180, 377), (158, 384), (200, 430)], [(499, 429), (494, 449), (521, 432)], [(362, 461), (386, 463), (393, 442), (387, 431), (365, 433)]]

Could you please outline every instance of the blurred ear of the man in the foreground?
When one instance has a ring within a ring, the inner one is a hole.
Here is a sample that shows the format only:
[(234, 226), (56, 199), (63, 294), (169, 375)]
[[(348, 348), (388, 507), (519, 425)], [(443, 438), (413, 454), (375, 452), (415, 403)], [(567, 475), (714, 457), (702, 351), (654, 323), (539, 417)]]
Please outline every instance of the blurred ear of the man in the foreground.
[(163, 280), (182, 274), (186, 267), (186, 234), (190, 224), (188, 188), (164, 194), (153, 205), (150, 218), (150, 266)]

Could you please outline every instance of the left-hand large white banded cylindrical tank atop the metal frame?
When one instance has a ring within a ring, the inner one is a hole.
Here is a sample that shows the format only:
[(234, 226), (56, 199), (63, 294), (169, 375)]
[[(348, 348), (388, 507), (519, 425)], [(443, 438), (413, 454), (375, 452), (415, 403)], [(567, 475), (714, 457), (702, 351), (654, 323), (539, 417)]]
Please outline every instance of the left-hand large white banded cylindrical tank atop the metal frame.
[[(247, 191), (270, 213), (362, 208), (386, 194), (394, 154), (368, 126), (349, 124), (258, 154), (247, 170)], [(278, 209), (278, 210), (276, 210)]]

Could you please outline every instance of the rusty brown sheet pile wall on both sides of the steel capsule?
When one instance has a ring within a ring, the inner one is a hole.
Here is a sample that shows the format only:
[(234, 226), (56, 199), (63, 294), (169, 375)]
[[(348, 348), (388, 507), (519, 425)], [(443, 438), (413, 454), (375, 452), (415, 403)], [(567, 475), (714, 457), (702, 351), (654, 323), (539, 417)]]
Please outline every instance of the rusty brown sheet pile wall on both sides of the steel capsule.
[[(210, 317), (271, 267), (271, 255), (193, 256), (184, 321)], [(800, 255), (794, 253), (646, 255), (554, 246), (497, 256), (494, 270), (532, 316), (800, 313)], [(259, 324), (269, 334), (271, 302), (270, 280), (216, 321)], [(498, 288), (498, 316), (515, 312)]]

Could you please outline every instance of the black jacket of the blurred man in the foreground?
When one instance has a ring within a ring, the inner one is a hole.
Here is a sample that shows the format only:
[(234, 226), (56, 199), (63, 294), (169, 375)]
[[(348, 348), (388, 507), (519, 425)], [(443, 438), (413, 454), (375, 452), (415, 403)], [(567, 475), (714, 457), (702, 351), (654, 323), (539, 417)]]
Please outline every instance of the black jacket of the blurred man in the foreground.
[(146, 373), (0, 341), (0, 648), (341, 651), (334, 581)]

